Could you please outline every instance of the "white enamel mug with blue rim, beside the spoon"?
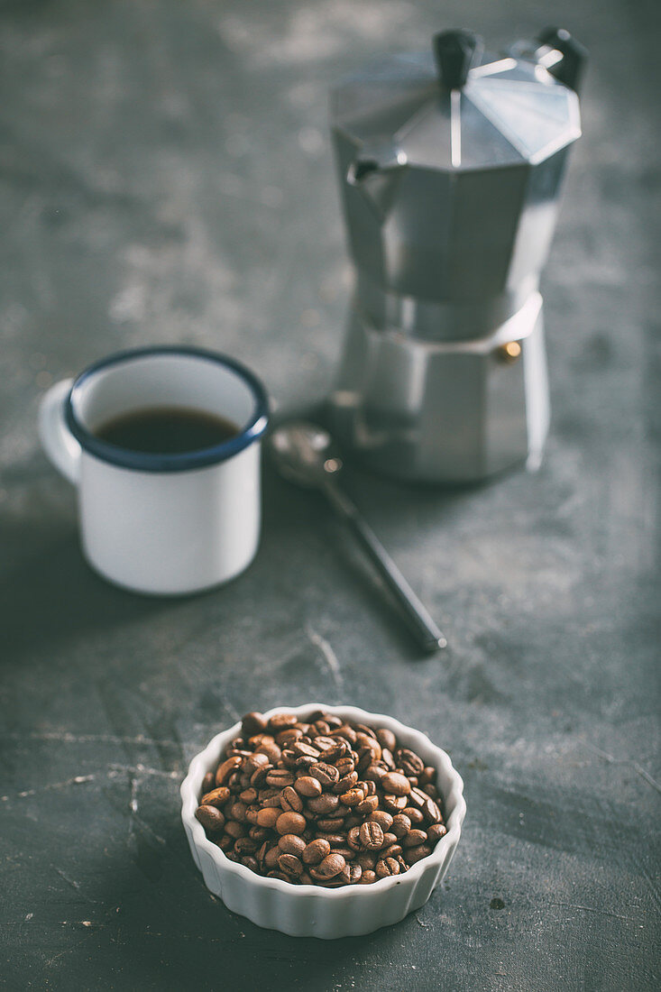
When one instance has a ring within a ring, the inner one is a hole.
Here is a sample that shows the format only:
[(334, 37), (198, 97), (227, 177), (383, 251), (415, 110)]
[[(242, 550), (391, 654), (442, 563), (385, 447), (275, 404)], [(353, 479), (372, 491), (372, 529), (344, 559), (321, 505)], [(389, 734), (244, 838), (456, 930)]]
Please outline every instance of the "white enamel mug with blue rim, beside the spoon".
[[(176, 454), (94, 434), (115, 417), (156, 407), (216, 415), (238, 434)], [(163, 595), (226, 582), (254, 558), (267, 424), (266, 393), (252, 372), (211, 351), (165, 346), (111, 355), (57, 383), (39, 416), (46, 453), (77, 487), (84, 557), (117, 585)]]

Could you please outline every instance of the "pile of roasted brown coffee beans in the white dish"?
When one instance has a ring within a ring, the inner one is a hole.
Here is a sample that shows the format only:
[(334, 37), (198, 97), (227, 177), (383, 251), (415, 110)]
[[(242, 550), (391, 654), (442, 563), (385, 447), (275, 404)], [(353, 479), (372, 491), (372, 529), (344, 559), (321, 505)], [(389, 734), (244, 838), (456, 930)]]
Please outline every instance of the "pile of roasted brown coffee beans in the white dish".
[(196, 816), (230, 861), (299, 885), (370, 885), (446, 833), (436, 769), (391, 730), (317, 711), (247, 713)]

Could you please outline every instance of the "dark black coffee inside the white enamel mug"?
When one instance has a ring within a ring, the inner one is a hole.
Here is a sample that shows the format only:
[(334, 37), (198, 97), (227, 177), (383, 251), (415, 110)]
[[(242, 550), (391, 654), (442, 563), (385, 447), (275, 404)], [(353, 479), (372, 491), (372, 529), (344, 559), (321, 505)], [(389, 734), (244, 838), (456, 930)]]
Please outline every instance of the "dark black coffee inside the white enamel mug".
[(180, 407), (134, 410), (94, 431), (100, 440), (150, 454), (184, 454), (215, 447), (238, 433), (238, 427), (224, 417)]

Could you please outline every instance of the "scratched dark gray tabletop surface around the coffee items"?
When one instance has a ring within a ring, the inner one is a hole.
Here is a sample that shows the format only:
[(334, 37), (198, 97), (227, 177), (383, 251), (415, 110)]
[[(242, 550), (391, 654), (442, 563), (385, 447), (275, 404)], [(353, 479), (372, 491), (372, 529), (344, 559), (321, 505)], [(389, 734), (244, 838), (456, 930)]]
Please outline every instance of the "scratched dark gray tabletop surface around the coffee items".
[[(270, 472), (228, 588), (160, 602), (96, 578), (35, 435), (43, 392), (185, 341), (248, 362), (281, 409), (318, 401), (347, 298), (331, 80), (434, 30), (497, 47), (549, 20), (593, 62), (544, 281), (545, 465), (463, 492), (347, 479), (444, 657), (416, 656), (325, 509)], [(0, 981), (658, 988), (659, 5), (21, 0), (0, 26)], [(179, 820), (213, 733), (312, 698), (429, 732), (468, 804), (431, 902), (335, 943), (229, 914)]]

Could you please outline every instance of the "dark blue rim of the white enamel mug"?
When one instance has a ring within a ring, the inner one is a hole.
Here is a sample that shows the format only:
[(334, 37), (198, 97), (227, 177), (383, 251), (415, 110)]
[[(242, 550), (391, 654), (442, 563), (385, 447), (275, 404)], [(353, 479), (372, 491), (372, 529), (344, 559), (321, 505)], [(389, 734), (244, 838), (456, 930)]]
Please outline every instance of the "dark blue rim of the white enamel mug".
[[(158, 355), (173, 355), (175, 357), (201, 358), (205, 361), (222, 365), (223, 368), (235, 372), (248, 386), (252, 392), (255, 407), (252, 417), (245, 427), (235, 437), (230, 437), (221, 444), (213, 447), (199, 448), (197, 451), (182, 451), (176, 454), (154, 454), (145, 451), (132, 451), (118, 444), (111, 444), (109, 441), (101, 440), (75, 416), (73, 405), (76, 394), (97, 372), (106, 369), (111, 365), (120, 365), (122, 362), (132, 361), (135, 358), (148, 358)], [(215, 465), (233, 454), (237, 454), (244, 448), (258, 440), (266, 431), (269, 422), (269, 404), (266, 390), (261, 382), (250, 369), (237, 362), (235, 358), (220, 354), (217, 351), (207, 351), (205, 348), (180, 345), (157, 345), (148, 348), (132, 348), (127, 351), (117, 351), (106, 358), (89, 365), (75, 379), (71, 386), (65, 402), (65, 419), (68, 430), (73, 434), (80, 446), (95, 455), (102, 461), (110, 462), (112, 465), (120, 465), (122, 468), (133, 468), (142, 472), (182, 472), (192, 468), (203, 468), (206, 465)]]

